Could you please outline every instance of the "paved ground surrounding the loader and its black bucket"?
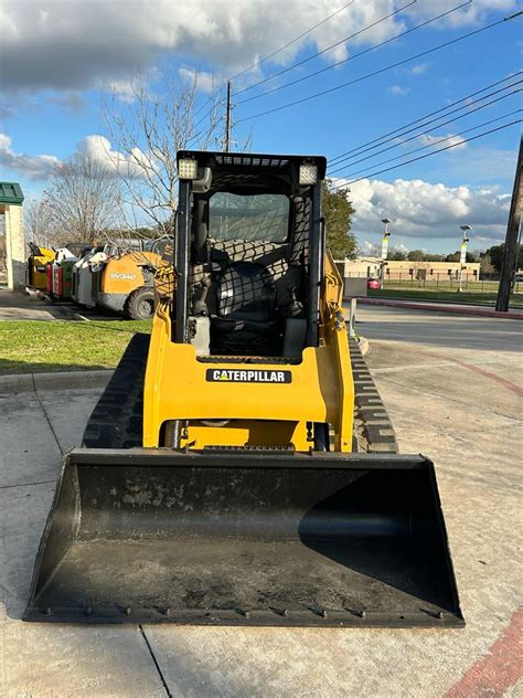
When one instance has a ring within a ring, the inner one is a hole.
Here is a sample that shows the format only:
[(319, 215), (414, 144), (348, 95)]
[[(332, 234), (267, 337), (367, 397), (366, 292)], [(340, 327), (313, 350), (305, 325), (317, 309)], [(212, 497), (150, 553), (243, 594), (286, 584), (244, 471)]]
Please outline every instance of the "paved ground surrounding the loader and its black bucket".
[(467, 627), (22, 623), (60, 455), (78, 443), (99, 393), (42, 388), (0, 398), (0, 695), (521, 695), (514, 638), (521, 622), (523, 326), (370, 307), (360, 309), (359, 319), (401, 451), (421, 452), (436, 463)]

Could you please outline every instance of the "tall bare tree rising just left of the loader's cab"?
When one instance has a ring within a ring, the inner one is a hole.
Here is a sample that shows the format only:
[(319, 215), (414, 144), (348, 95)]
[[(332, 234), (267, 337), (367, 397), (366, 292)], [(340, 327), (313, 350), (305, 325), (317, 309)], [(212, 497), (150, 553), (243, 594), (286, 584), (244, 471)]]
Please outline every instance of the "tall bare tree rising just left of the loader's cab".
[(159, 234), (172, 232), (177, 151), (216, 147), (222, 136), (218, 91), (196, 108), (198, 89), (198, 73), (166, 81), (161, 95), (151, 94), (142, 81), (137, 81), (126, 107), (117, 104), (114, 94), (104, 104), (115, 148), (107, 155), (125, 184), (126, 202), (132, 210), (142, 211)]

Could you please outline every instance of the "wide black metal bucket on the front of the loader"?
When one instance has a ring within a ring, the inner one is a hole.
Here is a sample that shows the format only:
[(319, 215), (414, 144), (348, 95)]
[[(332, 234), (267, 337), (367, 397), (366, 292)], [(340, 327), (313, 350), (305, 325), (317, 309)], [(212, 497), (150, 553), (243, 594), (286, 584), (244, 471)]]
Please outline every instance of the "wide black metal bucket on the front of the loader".
[(81, 448), (26, 621), (463, 625), (423, 456)]

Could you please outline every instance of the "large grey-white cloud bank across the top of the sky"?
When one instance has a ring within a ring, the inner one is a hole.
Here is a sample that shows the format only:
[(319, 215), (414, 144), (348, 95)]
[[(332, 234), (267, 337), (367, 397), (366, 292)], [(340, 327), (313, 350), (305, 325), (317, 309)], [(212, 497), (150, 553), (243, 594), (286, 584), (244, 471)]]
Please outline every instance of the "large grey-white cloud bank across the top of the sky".
[[(345, 36), (397, 9), (395, 0), (356, 0), (307, 33), (342, 4), (343, 0), (42, 0), (38, 6), (34, 0), (1, 0), (0, 82), (7, 92), (84, 89), (126, 81), (177, 56), (189, 65), (209, 62), (218, 73), (231, 74), (301, 33), (306, 35), (264, 64), (264, 73), (270, 63), (288, 64), (305, 46), (323, 50), (337, 41), (340, 45), (323, 59), (342, 60), (359, 45), (396, 35), (407, 27), (406, 20), (434, 15), (455, 0), (417, 2), (348, 45), (342, 41)], [(447, 23), (476, 24), (492, 4), (491, 0), (476, 0), (449, 15)], [(495, 3), (501, 11), (513, 7), (515, 0)], [(124, 98), (126, 94), (124, 88)]]

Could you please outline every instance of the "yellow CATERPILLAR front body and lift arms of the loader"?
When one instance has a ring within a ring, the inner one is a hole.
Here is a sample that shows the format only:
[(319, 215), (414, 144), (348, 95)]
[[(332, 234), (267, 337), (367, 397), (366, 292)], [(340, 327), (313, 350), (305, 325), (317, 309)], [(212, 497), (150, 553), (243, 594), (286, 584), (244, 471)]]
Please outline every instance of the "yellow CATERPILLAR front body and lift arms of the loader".
[[(334, 451), (352, 451), (354, 388), (342, 279), (330, 254), (321, 297), (320, 346), (305, 348), (301, 360), (289, 363), (253, 362), (252, 357), (248, 362), (242, 357), (201, 360), (192, 345), (171, 341), (169, 306), (161, 302), (147, 362), (143, 445), (164, 445), (170, 423), (179, 421), (180, 445), (189, 450), (277, 446), (308, 452), (311, 425), (327, 423)], [(259, 382), (239, 382), (253, 372)], [(281, 381), (284, 373), (290, 382)]]

